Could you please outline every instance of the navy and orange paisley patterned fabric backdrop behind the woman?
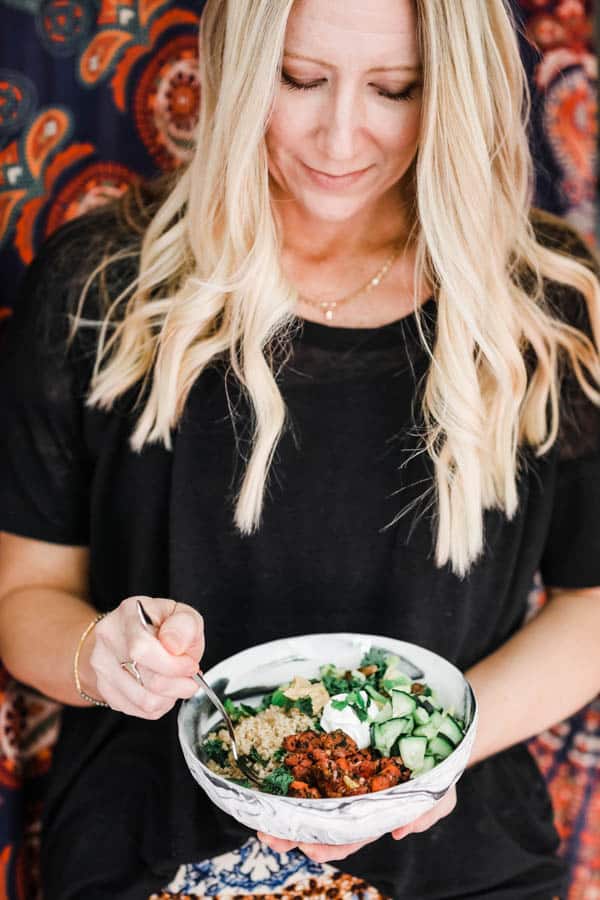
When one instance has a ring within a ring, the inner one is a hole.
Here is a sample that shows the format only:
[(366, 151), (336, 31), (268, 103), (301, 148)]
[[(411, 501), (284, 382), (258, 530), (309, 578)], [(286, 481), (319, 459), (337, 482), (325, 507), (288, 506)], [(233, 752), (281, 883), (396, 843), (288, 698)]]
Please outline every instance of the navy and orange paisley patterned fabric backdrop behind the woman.
[[(536, 202), (591, 243), (592, 0), (513, 2), (533, 92)], [(45, 236), (186, 159), (200, 103), (202, 5), (0, 0), (0, 318)], [(532, 614), (543, 600), (540, 587), (532, 591)], [(530, 742), (571, 867), (569, 900), (600, 900), (599, 726), (597, 700)], [(58, 727), (57, 706), (0, 667), (0, 900), (37, 897), (38, 814)]]

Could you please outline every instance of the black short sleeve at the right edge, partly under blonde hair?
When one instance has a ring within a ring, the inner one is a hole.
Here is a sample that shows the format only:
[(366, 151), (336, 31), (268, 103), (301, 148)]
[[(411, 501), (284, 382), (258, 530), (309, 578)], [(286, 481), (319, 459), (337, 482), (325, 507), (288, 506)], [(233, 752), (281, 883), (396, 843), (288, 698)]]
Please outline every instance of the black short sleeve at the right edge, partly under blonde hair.
[[(566, 250), (600, 276), (585, 242), (570, 232)], [(583, 295), (553, 286), (557, 315), (584, 331), (592, 328)], [(561, 384), (561, 424), (550, 528), (540, 567), (544, 584), (560, 588), (600, 586), (600, 408), (584, 392), (567, 361)]]

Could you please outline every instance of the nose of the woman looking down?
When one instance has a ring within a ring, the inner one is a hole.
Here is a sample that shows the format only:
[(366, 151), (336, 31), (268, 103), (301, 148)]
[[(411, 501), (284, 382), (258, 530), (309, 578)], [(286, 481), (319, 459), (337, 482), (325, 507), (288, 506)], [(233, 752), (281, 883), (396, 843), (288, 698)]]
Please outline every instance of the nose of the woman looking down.
[(332, 87), (322, 110), (319, 149), (324, 156), (340, 164), (357, 159), (363, 116), (363, 104), (351, 84), (338, 83)]

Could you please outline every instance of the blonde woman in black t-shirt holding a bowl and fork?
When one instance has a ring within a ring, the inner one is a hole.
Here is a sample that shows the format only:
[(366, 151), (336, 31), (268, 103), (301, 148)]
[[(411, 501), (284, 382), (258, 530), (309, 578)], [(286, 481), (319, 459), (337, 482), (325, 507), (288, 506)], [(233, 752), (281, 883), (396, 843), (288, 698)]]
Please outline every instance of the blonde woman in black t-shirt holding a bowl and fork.
[(200, 660), (343, 630), (460, 666), (479, 734), (418, 837), (301, 849), (395, 898), (564, 896), (522, 742), (600, 682), (600, 284), (531, 210), (513, 23), (209, 0), (201, 77), (188, 169), (49, 241), (2, 352), (0, 653), (66, 704), (47, 895), (239, 846), (176, 701)]

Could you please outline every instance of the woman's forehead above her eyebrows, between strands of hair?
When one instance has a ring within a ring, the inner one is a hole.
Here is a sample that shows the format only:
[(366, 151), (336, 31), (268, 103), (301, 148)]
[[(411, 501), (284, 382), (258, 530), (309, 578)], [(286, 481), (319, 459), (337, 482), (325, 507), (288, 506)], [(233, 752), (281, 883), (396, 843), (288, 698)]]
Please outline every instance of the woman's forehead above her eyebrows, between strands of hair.
[(296, 0), (285, 49), (332, 66), (418, 65), (414, 0)]

